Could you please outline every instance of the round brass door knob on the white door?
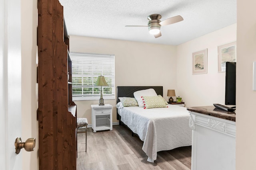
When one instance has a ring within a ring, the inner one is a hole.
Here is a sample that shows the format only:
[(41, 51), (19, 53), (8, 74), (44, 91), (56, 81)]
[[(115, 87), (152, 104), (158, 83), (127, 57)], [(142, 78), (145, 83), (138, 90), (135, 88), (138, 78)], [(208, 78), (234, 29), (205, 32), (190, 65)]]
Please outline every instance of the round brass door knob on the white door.
[(22, 142), (20, 137), (17, 137), (15, 140), (15, 150), (16, 154), (20, 153), (20, 149), (24, 148), (26, 151), (30, 152), (35, 149), (36, 146), (36, 139), (35, 138), (28, 138), (26, 142)]

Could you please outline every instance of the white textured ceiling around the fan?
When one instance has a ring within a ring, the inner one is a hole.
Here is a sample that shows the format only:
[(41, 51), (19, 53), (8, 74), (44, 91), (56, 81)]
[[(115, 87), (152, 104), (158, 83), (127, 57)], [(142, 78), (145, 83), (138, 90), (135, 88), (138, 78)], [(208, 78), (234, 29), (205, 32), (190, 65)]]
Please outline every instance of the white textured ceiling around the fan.
[[(59, 0), (69, 35), (179, 45), (236, 23), (236, 0)], [(150, 14), (161, 21), (180, 15), (183, 21), (150, 35)]]

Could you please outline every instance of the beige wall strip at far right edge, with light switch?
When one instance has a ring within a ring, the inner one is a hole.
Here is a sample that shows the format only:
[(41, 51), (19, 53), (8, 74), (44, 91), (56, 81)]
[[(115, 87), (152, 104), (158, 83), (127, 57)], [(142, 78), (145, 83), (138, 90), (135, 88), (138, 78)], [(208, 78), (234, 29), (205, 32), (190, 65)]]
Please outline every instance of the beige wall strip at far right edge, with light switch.
[(256, 61), (256, 1), (237, 0), (236, 169), (255, 170), (256, 91), (252, 63)]

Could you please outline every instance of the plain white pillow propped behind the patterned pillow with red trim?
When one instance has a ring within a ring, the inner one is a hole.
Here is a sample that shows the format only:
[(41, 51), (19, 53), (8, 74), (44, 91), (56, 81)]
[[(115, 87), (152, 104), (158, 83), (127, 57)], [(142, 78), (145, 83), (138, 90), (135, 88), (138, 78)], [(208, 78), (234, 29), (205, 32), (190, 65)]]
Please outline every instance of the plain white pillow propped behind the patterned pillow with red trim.
[(139, 90), (133, 93), (134, 98), (137, 100), (139, 107), (145, 107), (142, 96), (157, 96), (156, 91), (153, 88), (146, 90)]

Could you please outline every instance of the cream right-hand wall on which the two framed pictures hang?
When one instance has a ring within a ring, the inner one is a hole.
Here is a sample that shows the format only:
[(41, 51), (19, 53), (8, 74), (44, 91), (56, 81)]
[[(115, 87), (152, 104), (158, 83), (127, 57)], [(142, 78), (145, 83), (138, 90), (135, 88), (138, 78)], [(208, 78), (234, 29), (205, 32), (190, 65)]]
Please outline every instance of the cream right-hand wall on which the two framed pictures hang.
[[(225, 72), (218, 72), (218, 46), (236, 41), (236, 24), (177, 47), (177, 90), (186, 107), (225, 103)], [(207, 74), (192, 75), (192, 53), (208, 49)]]

